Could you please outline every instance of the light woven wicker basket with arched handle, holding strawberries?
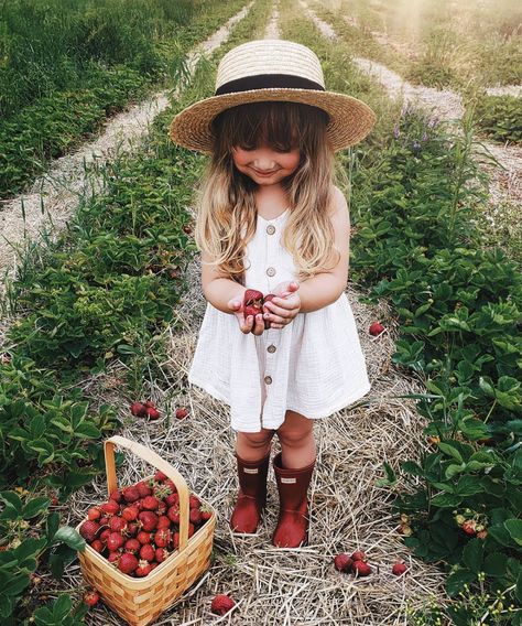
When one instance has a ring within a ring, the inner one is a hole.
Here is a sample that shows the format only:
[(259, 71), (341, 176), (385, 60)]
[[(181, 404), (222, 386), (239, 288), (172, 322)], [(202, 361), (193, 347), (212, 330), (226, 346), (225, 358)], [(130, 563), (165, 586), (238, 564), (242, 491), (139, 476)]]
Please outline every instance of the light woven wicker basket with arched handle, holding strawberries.
[[(78, 552), (84, 579), (98, 590), (104, 602), (121, 615), (128, 624), (145, 626), (168, 608), (209, 568), (216, 510), (199, 498), (202, 504), (210, 507), (213, 516), (188, 538), (189, 492), (183, 476), (155, 452), (122, 436), (112, 436), (105, 442), (109, 494), (118, 489), (115, 445), (127, 447), (166, 474), (174, 482), (180, 494), (180, 546), (148, 576), (133, 579), (123, 574), (89, 544), (86, 546), (84, 552)], [(78, 524), (76, 530), (79, 531), (84, 521)]]

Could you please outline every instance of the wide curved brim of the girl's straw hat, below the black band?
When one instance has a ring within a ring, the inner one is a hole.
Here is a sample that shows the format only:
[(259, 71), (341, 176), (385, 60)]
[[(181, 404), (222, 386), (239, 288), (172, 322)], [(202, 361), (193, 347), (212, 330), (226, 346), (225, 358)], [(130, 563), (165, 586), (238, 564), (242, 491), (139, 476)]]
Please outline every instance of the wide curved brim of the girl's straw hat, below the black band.
[(174, 117), (168, 136), (184, 148), (211, 154), (214, 136), (210, 122), (218, 114), (238, 105), (269, 100), (290, 100), (324, 109), (330, 116), (327, 136), (335, 152), (362, 141), (377, 119), (366, 102), (352, 96), (336, 91), (271, 87), (199, 100)]

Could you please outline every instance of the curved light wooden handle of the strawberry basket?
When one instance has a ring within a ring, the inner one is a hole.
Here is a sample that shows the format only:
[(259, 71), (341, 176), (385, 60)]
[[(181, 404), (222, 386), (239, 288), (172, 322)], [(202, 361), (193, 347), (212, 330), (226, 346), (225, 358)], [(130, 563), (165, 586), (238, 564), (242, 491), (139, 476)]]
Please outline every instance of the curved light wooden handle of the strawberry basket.
[(173, 467), (170, 463), (164, 461), (155, 452), (145, 447), (141, 443), (126, 439), (124, 436), (113, 435), (107, 439), (104, 443), (105, 452), (105, 466), (107, 471), (107, 488), (109, 495), (118, 489), (118, 477), (116, 475), (116, 463), (115, 463), (115, 446), (120, 445), (121, 447), (127, 447), (133, 454), (143, 458), (156, 470), (160, 470), (171, 478), (171, 481), (176, 486), (177, 493), (180, 494), (180, 552), (185, 548), (188, 541), (188, 487), (185, 478), (180, 474), (180, 472)]

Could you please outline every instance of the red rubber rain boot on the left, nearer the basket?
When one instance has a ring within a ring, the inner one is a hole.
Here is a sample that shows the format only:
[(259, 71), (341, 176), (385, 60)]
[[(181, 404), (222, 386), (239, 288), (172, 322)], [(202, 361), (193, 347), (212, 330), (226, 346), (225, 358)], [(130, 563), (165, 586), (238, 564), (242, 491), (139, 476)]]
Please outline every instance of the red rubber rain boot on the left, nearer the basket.
[(233, 532), (253, 533), (258, 529), (261, 512), (267, 505), (267, 475), (270, 452), (260, 461), (244, 461), (236, 452), (238, 461), (239, 494), (230, 517)]

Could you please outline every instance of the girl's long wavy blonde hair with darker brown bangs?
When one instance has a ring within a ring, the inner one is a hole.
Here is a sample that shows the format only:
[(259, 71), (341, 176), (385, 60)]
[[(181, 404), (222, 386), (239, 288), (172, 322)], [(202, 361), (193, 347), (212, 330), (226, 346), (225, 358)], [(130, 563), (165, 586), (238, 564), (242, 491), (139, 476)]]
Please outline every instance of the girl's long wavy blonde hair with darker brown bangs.
[(196, 190), (194, 236), (219, 273), (247, 287), (243, 255), (255, 233), (259, 185), (237, 170), (232, 148), (252, 150), (261, 139), (274, 150), (301, 150), (297, 169), (281, 183), (290, 207), (281, 244), (294, 259), (298, 280), (337, 265), (339, 252), (328, 217), (335, 170), (326, 134), (328, 119), (326, 111), (314, 106), (263, 101), (226, 109), (213, 120), (214, 150)]

